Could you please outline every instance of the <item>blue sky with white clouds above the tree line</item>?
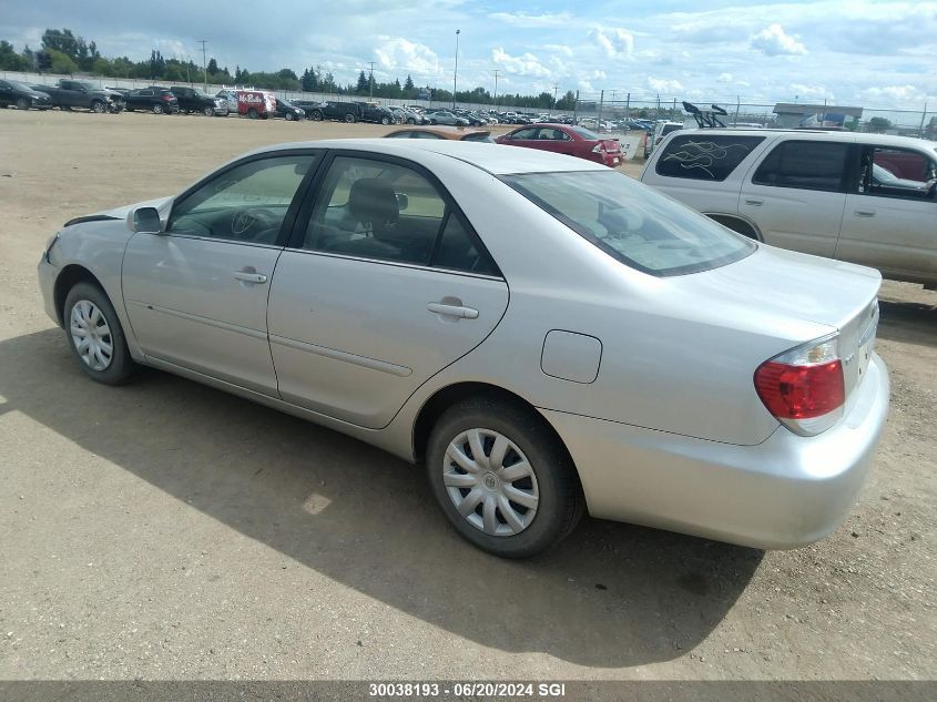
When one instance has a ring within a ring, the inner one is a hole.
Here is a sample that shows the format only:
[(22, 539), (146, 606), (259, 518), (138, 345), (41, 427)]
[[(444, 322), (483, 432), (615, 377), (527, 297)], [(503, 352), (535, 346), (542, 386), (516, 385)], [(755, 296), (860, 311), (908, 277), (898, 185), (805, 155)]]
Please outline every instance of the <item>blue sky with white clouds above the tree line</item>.
[(3, 0), (0, 39), (37, 48), (47, 28), (108, 57), (164, 57), (234, 72), (319, 64), (375, 80), (633, 101), (937, 105), (937, 2), (890, 0)]

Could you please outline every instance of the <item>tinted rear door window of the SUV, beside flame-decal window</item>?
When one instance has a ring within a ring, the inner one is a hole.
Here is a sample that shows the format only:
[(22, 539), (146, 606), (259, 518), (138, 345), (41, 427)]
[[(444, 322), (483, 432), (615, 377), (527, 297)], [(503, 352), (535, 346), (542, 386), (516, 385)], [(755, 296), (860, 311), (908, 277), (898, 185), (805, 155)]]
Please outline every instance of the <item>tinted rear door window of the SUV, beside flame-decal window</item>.
[(752, 182), (841, 193), (848, 154), (846, 142), (784, 141), (762, 161)]

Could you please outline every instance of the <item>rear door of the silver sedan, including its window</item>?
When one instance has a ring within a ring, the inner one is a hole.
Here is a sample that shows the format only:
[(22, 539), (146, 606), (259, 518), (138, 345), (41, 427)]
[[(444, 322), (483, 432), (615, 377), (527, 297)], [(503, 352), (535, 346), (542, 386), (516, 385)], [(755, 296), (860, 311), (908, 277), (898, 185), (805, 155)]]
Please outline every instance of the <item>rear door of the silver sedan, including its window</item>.
[(508, 286), (451, 196), (411, 162), (338, 152), (316, 190), (271, 288), (279, 394), (380, 428), (495, 329)]

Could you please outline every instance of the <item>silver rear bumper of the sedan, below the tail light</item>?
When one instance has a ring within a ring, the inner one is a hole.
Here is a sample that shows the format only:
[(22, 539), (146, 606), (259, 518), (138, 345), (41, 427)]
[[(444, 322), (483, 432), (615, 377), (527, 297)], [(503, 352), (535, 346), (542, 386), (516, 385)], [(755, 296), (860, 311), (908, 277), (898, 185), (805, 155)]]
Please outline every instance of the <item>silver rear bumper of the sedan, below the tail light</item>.
[(836, 529), (865, 481), (888, 414), (878, 356), (857, 393), (828, 431), (801, 437), (781, 427), (757, 446), (541, 411), (576, 461), (593, 517), (787, 549)]

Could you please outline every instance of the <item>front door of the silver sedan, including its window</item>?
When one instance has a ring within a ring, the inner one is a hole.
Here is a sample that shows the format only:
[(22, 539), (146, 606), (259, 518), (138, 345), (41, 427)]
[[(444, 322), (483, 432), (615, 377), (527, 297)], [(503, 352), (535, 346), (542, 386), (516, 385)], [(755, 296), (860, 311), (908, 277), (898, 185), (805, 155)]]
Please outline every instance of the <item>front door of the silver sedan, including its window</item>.
[(316, 154), (240, 161), (173, 204), (165, 231), (134, 234), (122, 284), (144, 354), (276, 395), (267, 293)]

